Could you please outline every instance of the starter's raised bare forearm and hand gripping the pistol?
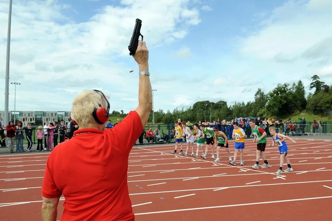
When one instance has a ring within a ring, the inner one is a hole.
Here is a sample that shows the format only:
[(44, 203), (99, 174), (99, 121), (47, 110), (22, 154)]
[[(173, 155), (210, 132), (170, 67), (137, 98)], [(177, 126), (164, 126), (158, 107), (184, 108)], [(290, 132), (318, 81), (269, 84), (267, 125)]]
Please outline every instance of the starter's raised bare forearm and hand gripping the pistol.
[[(144, 41), (138, 41), (138, 46), (136, 53), (133, 55), (135, 61), (138, 64), (139, 71), (149, 71), (149, 51), (145, 46)], [(139, 76), (139, 85), (138, 85), (138, 107), (136, 112), (142, 121), (142, 126), (144, 128), (147, 123), (150, 112), (152, 110), (152, 89), (150, 76), (140, 75)]]

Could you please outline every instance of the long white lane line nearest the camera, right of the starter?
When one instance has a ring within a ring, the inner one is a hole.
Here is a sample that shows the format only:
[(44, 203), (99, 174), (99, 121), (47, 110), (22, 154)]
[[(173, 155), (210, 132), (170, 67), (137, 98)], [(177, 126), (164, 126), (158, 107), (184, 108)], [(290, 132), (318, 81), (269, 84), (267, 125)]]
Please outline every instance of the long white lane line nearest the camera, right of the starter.
[(292, 201), (311, 200), (311, 199), (326, 199), (326, 198), (332, 198), (332, 196), (321, 196), (321, 197), (312, 197), (312, 198), (298, 198), (298, 199), (286, 199), (286, 200), (277, 200), (277, 201), (253, 202), (253, 203), (222, 205), (222, 206), (209, 206), (209, 207), (198, 207), (198, 208), (188, 208), (188, 209), (164, 210), (164, 211), (155, 211), (155, 212), (146, 212), (146, 213), (135, 213), (135, 215), (137, 216), (137, 215), (147, 215), (147, 214), (156, 214), (156, 213), (180, 212), (180, 211), (199, 210), (199, 209), (214, 209), (214, 208), (223, 208), (223, 207), (247, 206), (247, 205), (257, 205), (257, 204), (267, 204), (267, 203), (280, 203), (280, 202), (292, 202)]

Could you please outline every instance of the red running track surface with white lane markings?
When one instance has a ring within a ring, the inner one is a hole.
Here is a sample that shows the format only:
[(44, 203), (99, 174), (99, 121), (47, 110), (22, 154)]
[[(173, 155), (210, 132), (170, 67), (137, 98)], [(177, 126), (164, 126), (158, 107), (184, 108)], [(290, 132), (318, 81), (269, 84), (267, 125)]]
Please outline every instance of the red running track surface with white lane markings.
[[(135, 146), (128, 166), (135, 220), (332, 220), (332, 141), (296, 141), (288, 141), (294, 171), (281, 176), (274, 174), (279, 169), (278, 147), (265, 152), (272, 167), (251, 168), (256, 158), (252, 140), (246, 140), (245, 166), (239, 166), (239, 156), (236, 166), (229, 165), (223, 149), (221, 161), (214, 163), (211, 150), (204, 160), (171, 154), (174, 144)], [(233, 155), (233, 141), (230, 151)], [(0, 156), (0, 220), (41, 220), (48, 154)], [(57, 220), (63, 202), (60, 199)]]

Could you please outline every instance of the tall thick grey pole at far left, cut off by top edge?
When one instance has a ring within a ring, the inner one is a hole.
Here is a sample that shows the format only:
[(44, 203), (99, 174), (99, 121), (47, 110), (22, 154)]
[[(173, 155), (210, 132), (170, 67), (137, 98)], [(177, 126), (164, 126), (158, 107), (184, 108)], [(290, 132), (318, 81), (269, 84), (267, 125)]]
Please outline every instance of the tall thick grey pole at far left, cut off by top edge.
[(7, 125), (7, 123), (9, 123), (9, 119), (8, 119), (8, 101), (9, 101), (9, 54), (10, 54), (11, 21), (12, 21), (12, 0), (9, 1), (9, 12), (8, 12), (6, 76), (5, 76), (5, 116), (4, 116), (4, 119), (3, 119), (4, 125)]

